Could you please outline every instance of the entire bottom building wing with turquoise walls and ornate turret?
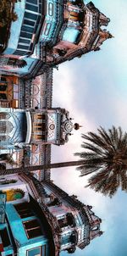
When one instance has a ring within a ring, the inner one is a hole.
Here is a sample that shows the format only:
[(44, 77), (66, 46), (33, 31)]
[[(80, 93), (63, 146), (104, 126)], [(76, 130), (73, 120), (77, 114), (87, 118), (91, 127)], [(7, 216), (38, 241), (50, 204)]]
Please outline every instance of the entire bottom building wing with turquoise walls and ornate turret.
[(76, 247), (86, 248), (102, 235), (102, 220), (91, 207), (74, 195), (69, 197), (52, 181), (22, 173), (0, 176), (0, 187), (2, 256), (74, 253)]

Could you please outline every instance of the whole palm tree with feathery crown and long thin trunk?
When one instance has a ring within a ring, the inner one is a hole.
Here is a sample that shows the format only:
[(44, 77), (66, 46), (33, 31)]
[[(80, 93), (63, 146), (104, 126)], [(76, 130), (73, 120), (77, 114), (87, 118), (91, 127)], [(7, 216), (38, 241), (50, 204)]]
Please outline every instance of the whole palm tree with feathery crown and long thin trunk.
[(123, 133), (120, 127), (118, 129), (112, 127), (108, 132), (100, 127), (97, 131), (98, 135), (94, 132), (82, 135), (86, 141), (81, 147), (85, 151), (75, 153), (76, 156), (80, 156), (78, 161), (1, 170), (0, 174), (78, 165), (77, 170), (80, 170), (81, 176), (95, 173), (89, 179), (88, 186), (96, 192), (112, 197), (119, 186), (127, 192), (127, 133)]

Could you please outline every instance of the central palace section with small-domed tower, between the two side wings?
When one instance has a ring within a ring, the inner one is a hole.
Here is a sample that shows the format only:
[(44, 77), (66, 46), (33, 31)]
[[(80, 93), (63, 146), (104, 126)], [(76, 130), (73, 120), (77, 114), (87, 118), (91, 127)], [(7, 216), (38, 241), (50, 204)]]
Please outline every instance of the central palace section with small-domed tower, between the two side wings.
[[(0, 164), (3, 168), (49, 164), (51, 145), (69, 141), (73, 124), (66, 109), (52, 108), (52, 68), (27, 81), (9, 73), (0, 80)], [(50, 179), (50, 170), (36, 177)]]

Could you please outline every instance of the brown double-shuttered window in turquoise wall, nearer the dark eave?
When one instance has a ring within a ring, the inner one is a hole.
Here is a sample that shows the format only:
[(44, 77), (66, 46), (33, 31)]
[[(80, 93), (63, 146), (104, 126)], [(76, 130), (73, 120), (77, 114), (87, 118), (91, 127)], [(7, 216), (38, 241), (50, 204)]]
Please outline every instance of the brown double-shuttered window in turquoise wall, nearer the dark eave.
[(28, 239), (42, 236), (41, 226), (38, 220), (28, 220), (23, 222), (23, 225)]

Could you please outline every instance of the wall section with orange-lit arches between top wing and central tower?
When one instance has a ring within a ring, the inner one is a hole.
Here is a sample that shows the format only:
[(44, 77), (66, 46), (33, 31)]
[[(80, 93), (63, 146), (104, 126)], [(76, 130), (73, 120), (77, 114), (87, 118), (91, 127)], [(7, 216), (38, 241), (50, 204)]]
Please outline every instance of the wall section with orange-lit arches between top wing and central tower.
[(13, 109), (51, 109), (52, 69), (35, 79), (24, 81), (6, 70), (0, 75), (0, 107)]

